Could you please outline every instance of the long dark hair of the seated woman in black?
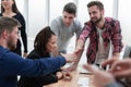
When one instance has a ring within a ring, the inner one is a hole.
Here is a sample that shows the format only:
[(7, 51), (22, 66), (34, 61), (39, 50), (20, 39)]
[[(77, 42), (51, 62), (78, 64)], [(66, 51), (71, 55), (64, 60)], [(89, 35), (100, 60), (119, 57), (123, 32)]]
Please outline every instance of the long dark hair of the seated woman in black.
[(52, 35), (56, 35), (49, 26), (43, 28), (35, 38), (34, 48), (35, 51), (38, 52), (40, 55), (46, 53), (46, 45), (48, 44), (49, 39)]

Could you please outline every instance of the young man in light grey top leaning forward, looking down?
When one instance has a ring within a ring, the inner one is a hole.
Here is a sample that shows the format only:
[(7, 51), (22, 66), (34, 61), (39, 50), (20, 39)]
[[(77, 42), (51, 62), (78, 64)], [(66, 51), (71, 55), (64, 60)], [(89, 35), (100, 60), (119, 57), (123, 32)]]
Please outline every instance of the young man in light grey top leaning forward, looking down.
[(60, 52), (67, 53), (67, 48), (70, 39), (76, 34), (79, 36), (82, 26), (75, 18), (76, 5), (73, 2), (69, 2), (63, 8), (63, 15), (55, 18), (51, 22), (51, 29), (58, 36), (58, 49), (55, 55), (59, 55)]

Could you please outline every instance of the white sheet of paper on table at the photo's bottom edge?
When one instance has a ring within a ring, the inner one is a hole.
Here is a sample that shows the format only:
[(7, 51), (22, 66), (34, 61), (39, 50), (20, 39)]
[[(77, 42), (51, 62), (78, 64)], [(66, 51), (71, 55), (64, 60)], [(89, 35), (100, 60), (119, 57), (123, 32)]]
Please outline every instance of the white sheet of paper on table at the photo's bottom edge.
[(81, 87), (90, 87), (90, 77), (79, 77), (78, 85)]

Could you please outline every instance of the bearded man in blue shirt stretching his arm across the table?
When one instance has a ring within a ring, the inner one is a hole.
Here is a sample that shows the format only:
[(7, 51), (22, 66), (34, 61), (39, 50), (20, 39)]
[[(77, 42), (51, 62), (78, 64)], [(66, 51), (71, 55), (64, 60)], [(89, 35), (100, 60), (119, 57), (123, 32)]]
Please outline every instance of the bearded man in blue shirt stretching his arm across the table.
[(55, 72), (67, 62), (76, 60), (75, 54), (39, 60), (23, 59), (11, 52), (16, 48), (20, 23), (13, 17), (0, 17), (0, 87), (17, 87), (17, 75), (43, 76)]

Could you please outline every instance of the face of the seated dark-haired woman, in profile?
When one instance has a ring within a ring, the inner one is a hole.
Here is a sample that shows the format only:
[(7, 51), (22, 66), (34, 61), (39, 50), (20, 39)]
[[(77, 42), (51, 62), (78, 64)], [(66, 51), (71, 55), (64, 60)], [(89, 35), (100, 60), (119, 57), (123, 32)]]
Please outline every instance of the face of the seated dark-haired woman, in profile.
[(51, 35), (51, 38), (48, 40), (46, 45), (47, 52), (53, 52), (57, 49), (57, 36)]

